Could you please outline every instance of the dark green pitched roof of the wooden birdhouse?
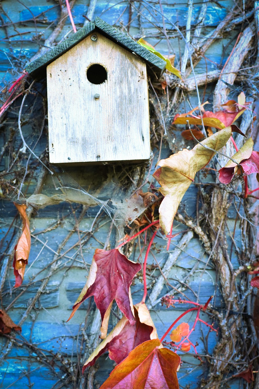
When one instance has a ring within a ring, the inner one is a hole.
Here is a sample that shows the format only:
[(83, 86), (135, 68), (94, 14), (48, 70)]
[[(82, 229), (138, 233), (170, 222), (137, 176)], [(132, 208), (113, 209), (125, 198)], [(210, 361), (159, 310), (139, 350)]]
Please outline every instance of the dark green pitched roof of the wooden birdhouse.
[(127, 37), (127, 35), (109, 25), (101, 18), (96, 17), (94, 21), (87, 23), (87, 25), (85, 25), (83, 28), (80, 28), (80, 30), (78, 30), (78, 32), (73, 34), (71, 37), (64, 40), (53, 49), (43, 54), (40, 58), (27, 65), (26, 71), (33, 78), (45, 77), (47, 65), (55, 61), (62, 54), (66, 53), (66, 51), (70, 50), (73, 46), (81, 42), (93, 32), (99, 32), (103, 34), (119, 46), (124, 47), (124, 49), (130, 51), (132, 54), (142, 58), (148, 65), (148, 71), (150, 75), (155, 74), (156, 77), (159, 78), (165, 70), (166, 62), (164, 60), (151, 53), (145, 47), (135, 42), (135, 40)]

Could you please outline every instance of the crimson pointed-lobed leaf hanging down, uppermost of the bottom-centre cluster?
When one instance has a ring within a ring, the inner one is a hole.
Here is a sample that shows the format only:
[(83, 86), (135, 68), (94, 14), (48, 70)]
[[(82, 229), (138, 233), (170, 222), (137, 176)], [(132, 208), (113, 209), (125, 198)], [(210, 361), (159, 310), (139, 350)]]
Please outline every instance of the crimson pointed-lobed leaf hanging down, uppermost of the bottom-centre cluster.
[(133, 277), (139, 270), (141, 270), (141, 265), (129, 261), (118, 249), (110, 251), (96, 249), (87, 282), (76, 300), (68, 320), (73, 317), (84, 300), (94, 296), (94, 301), (102, 318), (102, 339), (107, 335), (108, 321), (114, 299), (130, 324), (135, 324), (136, 320), (133, 314), (129, 287), (132, 284)]

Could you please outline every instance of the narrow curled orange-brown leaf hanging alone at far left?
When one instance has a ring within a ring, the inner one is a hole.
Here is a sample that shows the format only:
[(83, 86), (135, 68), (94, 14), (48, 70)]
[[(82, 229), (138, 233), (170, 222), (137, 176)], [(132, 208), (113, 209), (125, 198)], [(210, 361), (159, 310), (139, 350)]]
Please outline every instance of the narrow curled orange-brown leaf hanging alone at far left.
[(16, 206), (22, 221), (23, 221), (23, 232), (21, 237), (18, 240), (17, 245), (14, 247), (14, 275), (15, 275), (15, 286), (21, 286), (23, 282), (23, 276), (25, 271), (25, 266), (28, 264), (28, 258), (31, 249), (31, 235), (30, 235), (30, 222), (26, 215), (26, 205), (20, 205), (14, 203)]

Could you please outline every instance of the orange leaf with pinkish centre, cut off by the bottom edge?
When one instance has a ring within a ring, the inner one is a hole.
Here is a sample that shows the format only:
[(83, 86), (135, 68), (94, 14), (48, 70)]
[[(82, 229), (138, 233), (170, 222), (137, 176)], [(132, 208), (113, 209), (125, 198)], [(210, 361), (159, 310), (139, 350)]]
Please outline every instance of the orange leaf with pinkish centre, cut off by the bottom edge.
[(179, 389), (176, 371), (181, 359), (173, 351), (158, 347), (159, 339), (137, 346), (100, 389)]

